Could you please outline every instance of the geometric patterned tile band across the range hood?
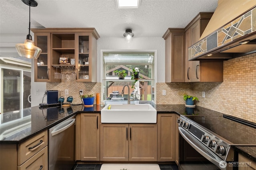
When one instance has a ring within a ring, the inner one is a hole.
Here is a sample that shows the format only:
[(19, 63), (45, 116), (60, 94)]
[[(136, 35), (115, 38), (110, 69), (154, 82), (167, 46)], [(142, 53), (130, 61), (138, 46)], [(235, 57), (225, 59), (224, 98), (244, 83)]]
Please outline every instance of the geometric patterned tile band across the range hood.
[(188, 49), (188, 59), (197, 57), (254, 31), (256, 31), (256, 8), (198, 41)]

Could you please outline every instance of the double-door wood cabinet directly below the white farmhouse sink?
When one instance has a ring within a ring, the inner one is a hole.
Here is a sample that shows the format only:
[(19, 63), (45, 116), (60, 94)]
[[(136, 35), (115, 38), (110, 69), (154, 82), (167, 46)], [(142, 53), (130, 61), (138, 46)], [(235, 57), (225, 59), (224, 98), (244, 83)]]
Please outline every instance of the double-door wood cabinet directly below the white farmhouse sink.
[(157, 124), (102, 123), (101, 161), (157, 161)]

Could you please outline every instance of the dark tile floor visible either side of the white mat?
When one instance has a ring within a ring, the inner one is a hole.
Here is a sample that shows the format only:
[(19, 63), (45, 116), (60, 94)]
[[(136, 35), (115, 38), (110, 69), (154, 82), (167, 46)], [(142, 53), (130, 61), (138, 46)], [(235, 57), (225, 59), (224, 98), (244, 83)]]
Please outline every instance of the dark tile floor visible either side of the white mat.
[[(100, 170), (101, 164), (76, 164), (74, 170)], [(178, 170), (175, 164), (159, 164), (161, 170)]]

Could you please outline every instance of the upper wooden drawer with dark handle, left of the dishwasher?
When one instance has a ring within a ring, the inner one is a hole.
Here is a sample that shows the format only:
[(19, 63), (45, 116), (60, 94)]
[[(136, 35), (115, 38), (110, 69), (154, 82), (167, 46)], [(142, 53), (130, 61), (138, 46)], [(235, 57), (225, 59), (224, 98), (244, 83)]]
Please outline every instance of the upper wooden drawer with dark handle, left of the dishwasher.
[(18, 165), (34, 156), (37, 152), (48, 145), (48, 133), (44, 131), (35, 137), (26, 140), (18, 146)]

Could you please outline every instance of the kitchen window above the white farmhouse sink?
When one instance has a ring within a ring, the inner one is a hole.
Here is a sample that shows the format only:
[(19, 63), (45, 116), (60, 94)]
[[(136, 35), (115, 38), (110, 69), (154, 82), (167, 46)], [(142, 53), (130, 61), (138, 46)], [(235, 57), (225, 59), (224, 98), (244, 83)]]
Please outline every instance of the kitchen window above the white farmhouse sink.
[[(154, 101), (154, 58), (155, 52), (103, 52), (103, 99), (107, 101), (122, 102), (128, 100), (128, 90), (122, 89), (124, 85), (130, 87), (131, 100)], [(140, 79), (134, 85), (132, 68), (139, 69)], [(115, 70), (125, 70), (126, 77), (118, 79)], [(132, 86), (134, 85), (134, 88)], [(139, 91), (139, 92), (138, 92)]]

